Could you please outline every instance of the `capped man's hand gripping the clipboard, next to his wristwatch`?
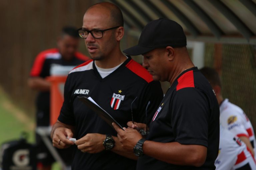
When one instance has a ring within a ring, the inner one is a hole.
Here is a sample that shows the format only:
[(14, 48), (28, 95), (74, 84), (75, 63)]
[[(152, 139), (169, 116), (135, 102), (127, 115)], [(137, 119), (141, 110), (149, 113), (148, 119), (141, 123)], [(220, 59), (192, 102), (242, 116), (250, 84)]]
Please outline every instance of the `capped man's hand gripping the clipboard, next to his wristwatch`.
[(142, 135), (133, 128), (119, 128), (115, 123), (112, 123), (117, 131), (117, 137), (125, 150), (133, 150), (136, 143), (142, 138)]

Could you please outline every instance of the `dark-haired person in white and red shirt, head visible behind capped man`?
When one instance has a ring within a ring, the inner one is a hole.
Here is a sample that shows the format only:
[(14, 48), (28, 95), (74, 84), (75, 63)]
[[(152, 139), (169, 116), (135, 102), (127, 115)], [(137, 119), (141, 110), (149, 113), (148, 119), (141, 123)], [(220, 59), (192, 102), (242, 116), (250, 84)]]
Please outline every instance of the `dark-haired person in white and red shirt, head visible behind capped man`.
[(234, 135), (238, 136), (246, 144), (255, 158), (256, 142), (250, 120), (240, 107), (230, 103), (228, 99), (223, 99), (220, 77), (215, 69), (204, 67), (200, 69), (200, 71), (208, 79), (216, 94), (220, 105), (220, 124)]

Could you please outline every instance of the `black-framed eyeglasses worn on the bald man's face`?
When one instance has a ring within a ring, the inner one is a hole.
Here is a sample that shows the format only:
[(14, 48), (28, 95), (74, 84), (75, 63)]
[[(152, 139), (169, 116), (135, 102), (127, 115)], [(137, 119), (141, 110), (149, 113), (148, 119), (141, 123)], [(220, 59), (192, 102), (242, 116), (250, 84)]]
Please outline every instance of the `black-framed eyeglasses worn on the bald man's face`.
[(118, 27), (120, 27), (120, 26), (108, 28), (108, 29), (105, 29), (105, 30), (86, 30), (86, 29), (83, 29), (83, 28), (79, 28), (77, 31), (78, 31), (79, 37), (81, 37), (82, 39), (86, 39), (88, 37), (89, 33), (91, 33), (93, 38), (101, 39), (103, 37), (103, 33), (105, 31), (116, 29)]

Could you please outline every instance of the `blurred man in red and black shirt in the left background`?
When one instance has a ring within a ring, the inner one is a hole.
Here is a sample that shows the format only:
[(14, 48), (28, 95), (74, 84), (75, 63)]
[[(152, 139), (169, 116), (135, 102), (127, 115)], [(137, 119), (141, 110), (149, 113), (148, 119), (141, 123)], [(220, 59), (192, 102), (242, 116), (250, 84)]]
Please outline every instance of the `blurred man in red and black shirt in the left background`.
[[(57, 48), (51, 48), (40, 52), (34, 61), (28, 79), (28, 86), (37, 90), (36, 99), (36, 125), (37, 127), (49, 127), (50, 125), (50, 82), (46, 77), (53, 75), (68, 75), (75, 66), (89, 60), (82, 53), (77, 52), (79, 35), (74, 27), (64, 27), (57, 39)], [(51, 169), (55, 161), (40, 135), (36, 134), (37, 168), (39, 170)], [(71, 162), (72, 148), (59, 150), (64, 162)]]

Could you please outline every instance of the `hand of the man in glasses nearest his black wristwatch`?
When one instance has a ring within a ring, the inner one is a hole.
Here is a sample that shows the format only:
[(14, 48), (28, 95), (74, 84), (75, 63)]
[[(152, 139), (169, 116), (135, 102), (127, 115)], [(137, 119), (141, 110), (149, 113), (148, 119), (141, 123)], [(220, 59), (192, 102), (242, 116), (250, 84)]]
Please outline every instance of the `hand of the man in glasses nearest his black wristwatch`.
[(88, 133), (84, 137), (78, 139), (76, 145), (82, 152), (98, 153), (105, 149), (103, 146), (105, 138), (105, 134)]

